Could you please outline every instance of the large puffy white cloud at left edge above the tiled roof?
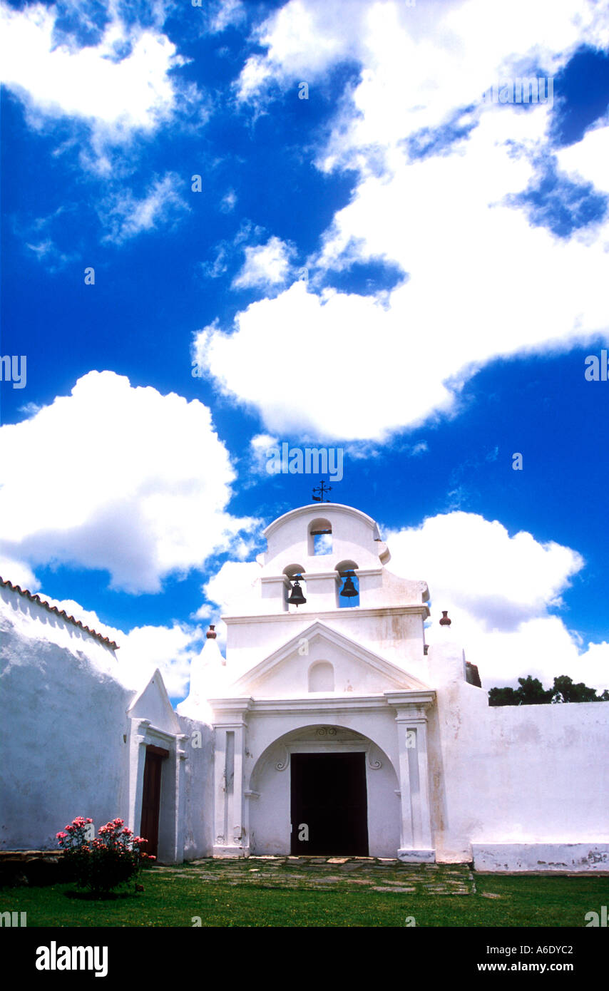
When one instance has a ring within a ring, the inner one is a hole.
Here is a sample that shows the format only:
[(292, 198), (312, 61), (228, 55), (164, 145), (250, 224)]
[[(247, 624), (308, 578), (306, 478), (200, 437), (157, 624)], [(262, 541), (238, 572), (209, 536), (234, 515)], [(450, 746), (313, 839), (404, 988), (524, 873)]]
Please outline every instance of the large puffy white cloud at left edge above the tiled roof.
[(157, 592), (170, 573), (249, 547), (240, 533), (255, 520), (226, 510), (235, 473), (197, 400), (91, 372), (3, 426), (0, 451), (1, 549), (31, 569), (98, 568), (113, 588)]

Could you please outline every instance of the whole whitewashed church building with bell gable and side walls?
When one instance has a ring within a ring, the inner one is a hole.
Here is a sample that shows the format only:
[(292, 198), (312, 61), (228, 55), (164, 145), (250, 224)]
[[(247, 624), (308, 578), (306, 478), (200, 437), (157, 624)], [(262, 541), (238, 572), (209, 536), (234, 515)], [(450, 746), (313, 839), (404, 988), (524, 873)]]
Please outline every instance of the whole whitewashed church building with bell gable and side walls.
[[(609, 704), (489, 707), (448, 625), (427, 648), (426, 583), (392, 574), (358, 509), (305, 505), (264, 535), (222, 616), (226, 656), (210, 628), (176, 712), (159, 672), (128, 691), (116, 645), (2, 583), (0, 849), (120, 816), (168, 863), (609, 870)], [(26, 745), (41, 733), (49, 746)]]

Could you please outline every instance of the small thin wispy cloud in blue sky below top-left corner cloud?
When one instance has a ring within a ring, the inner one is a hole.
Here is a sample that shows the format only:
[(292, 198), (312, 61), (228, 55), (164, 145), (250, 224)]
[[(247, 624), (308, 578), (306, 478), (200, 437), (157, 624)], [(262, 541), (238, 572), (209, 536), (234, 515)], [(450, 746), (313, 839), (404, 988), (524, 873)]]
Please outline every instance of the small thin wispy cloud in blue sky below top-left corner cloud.
[(176, 172), (166, 172), (163, 178), (155, 179), (141, 199), (137, 199), (131, 190), (107, 197), (99, 208), (102, 221), (109, 227), (104, 240), (122, 244), (189, 210), (181, 195), (182, 186), (183, 179)]

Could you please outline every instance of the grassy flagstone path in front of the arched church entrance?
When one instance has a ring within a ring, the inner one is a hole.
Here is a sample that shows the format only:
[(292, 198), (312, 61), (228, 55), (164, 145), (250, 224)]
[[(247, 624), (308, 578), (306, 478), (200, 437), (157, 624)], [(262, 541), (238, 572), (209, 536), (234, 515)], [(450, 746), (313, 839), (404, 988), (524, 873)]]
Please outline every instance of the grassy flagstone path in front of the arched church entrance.
[(168, 877), (199, 877), (227, 885), (301, 890), (353, 889), (396, 895), (473, 895), (473, 874), (465, 864), (404, 864), (379, 857), (247, 857), (191, 860), (154, 867)]

